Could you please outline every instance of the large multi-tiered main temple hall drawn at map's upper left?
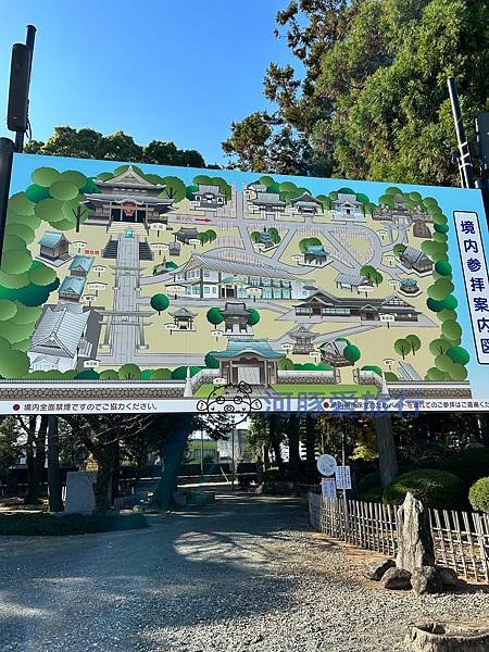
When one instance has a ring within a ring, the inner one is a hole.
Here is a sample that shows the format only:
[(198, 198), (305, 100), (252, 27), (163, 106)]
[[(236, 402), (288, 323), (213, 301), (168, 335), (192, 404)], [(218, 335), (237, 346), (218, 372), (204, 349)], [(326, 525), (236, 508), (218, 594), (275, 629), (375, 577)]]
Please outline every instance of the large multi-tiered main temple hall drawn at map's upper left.
[(112, 223), (139, 223), (147, 228), (154, 222), (167, 222), (164, 213), (173, 199), (164, 197), (165, 185), (152, 184), (141, 177), (131, 165), (111, 179), (93, 179), (98, 192), (86, 193), (84, 202), (92, 213), (91, 224), (110, 226)]

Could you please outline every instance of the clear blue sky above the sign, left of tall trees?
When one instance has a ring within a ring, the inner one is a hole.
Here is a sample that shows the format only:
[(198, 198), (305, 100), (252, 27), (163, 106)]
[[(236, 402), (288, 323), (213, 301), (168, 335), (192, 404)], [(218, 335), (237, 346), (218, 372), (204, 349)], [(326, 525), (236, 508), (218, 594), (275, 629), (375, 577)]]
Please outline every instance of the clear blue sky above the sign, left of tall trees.
[[(1, 0), (0, 105), (10, 49), (38, 28), (30, 89), (33, 136), (57, 125), (122, 129), (137, 142), (173, 140), (224, 163), (233, 121), (268, 104), (269, 61), (286, 63), (273, 35), (286, 0)], [(0, 135), (9, 135), (4, 115)]]

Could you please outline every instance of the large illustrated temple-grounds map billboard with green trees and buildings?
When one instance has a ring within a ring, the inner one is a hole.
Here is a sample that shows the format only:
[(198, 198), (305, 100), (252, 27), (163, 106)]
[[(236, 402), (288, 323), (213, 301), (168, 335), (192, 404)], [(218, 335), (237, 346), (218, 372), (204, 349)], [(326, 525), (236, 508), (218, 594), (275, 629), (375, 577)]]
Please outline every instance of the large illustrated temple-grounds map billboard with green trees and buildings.
[(487, 410), (487, 250), (477, 190), (15, 154), (0, 410)]

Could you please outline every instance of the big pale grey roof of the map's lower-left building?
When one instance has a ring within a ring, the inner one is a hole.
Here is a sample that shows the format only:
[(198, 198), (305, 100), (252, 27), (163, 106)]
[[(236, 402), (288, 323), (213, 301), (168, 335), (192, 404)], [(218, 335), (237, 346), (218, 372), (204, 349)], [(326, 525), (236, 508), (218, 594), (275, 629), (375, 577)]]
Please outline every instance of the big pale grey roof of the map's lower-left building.
[(74, 358), (88, 317), (89, 312), (73, 312), (67, 308), (55, 310), (48, 305), (36, 326), (29, 351)]

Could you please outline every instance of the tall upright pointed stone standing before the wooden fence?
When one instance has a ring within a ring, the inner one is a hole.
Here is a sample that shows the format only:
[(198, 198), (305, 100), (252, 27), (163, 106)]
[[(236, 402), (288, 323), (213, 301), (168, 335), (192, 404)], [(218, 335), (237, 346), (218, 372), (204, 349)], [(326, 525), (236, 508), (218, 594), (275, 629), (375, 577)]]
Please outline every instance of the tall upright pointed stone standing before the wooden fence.
[(411, 573), (422, 566), (435, 565), (435, 546), (429, 513), (410, 492), (398, 510), (398, 568)]

